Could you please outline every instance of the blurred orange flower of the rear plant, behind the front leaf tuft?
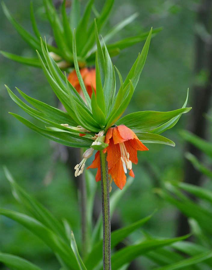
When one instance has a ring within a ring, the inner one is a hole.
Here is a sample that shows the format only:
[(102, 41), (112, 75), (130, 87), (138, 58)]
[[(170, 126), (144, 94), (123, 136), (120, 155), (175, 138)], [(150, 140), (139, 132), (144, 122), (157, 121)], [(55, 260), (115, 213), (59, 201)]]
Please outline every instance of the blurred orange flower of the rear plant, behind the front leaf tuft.
[[(82, 76), (88, 95), (91, 98), (91, 94), (92, 94), (91, 85), (93, 86), (94, 92), (96, 93), (96, 70), (95, 68), (88, 69), (87, 67), (84, 67), (80, 69), (80, 74)], [(73, 87), (77, 90), (77, 92), (81, 95), (81, 97), (84, 97), (75, 70), (69, 73), (67, 79), (73, 85)]]

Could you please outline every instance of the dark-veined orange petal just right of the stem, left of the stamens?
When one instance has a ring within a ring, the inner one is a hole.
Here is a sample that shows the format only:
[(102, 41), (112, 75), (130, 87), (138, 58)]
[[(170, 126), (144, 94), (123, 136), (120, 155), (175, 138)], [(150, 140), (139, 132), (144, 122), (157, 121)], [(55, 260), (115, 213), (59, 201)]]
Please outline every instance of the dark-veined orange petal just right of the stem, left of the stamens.
[(109, 146), (106, 148), (107, 150), (107, 163), (108, 169), (113, 167), (114, 164), (118, 162), (121, 158), (121, 150), (119, 144), (114, 144), (113, 139), (109, 140)]

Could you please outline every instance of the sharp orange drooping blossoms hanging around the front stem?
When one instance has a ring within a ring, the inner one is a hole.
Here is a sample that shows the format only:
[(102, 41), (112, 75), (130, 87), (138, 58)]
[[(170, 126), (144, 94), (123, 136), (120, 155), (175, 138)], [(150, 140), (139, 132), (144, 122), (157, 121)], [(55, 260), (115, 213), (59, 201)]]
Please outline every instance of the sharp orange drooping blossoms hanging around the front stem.
[[(132, 171), (132, 163), (137, 164), (137, 150), (149, 150), (143, 143), (140, 142), (136, 134), (124, 125), (109, 128), (105, 143), (109, 146), (103, 150), (107, 152), (108, 173), (113, 181), (122, 189), (126, 183), (127, 169), (130, 170), (129, 175), (134, 177)], [(100, 175), (100, 155), (96, 153), (94, 161), (88, 168), (97, 168), (96, 181), (101, 180)], [(87, 168), (87, 169), (88, 169)]]

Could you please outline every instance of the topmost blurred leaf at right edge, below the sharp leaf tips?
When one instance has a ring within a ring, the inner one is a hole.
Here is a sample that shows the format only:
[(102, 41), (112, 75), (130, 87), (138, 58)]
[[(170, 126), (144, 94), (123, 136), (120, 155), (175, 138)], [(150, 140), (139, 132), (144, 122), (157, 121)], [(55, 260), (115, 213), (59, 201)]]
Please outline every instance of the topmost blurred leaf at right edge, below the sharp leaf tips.
[(192, 145), (200, 149), (202, 152), (204, 152), (206, 155), (208, 155), (210, 158), (212, 158), (211, 143), (186, 130), (181, 130), (180, 135), (183, 137), (184, 140), (191, 143)]

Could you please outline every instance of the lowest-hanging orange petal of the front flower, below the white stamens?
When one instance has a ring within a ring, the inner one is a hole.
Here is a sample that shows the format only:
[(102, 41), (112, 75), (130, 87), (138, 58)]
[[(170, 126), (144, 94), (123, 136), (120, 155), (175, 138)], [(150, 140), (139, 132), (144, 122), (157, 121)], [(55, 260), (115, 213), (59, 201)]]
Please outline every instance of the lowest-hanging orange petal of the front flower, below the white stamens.
[(122, 189), (126, 183), (126, 175), (124, 173), (123, 165), (121, 160), (119, 160), (110, 170), (109, 173), (114, 181), (114, 183)]

